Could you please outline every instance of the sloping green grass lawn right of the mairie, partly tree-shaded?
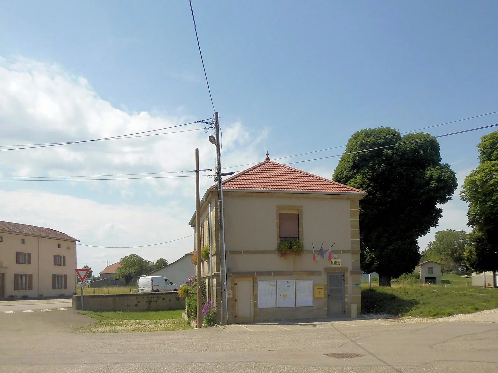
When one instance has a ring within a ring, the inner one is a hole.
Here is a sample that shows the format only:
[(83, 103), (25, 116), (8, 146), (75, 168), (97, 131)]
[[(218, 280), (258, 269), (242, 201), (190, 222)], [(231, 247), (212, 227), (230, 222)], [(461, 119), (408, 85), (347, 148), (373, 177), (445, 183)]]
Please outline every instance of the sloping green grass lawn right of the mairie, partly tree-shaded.
[(454, 274), (444, 275), (442, 282), (441, 285), (396, 283), (393, 287), (372, 289), (367, 283), (362, 286), (362, 312), (444, 317), (498, 308), (498, 289), (471, 286), (472, 279)]

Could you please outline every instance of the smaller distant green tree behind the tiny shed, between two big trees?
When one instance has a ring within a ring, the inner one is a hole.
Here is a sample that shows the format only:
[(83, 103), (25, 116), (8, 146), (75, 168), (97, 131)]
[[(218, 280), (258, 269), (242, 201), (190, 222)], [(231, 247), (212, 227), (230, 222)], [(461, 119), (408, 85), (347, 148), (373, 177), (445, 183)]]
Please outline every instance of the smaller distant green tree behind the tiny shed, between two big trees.
[(469, 246), (466, 231), (445, 229), (436, 232), (434, 241), (429, 242), (422, 252), (422, 260), (433, 260), (442, 264), (445, 273), (456, 272), (460, 265), (466, 263), (465, 250)]

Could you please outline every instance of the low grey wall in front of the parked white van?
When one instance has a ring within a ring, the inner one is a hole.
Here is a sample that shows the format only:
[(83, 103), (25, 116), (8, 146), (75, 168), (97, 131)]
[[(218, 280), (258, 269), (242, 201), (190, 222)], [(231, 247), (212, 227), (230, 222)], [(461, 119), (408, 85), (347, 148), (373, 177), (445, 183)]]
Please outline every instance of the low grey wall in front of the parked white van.
[[(185, 309), (185, 298), (176, 291), (85, 295), (85, 311), (164, 311)], [(81, 309), (81, 296), (73, 296), (73, 309)]]

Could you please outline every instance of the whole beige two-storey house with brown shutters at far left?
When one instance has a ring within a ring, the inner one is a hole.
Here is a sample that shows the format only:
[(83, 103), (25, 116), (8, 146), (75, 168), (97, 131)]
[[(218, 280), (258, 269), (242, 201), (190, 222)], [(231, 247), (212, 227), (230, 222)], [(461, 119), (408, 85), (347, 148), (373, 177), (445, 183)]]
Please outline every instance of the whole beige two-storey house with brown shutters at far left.
[(0, 298), (72, 295), (76, 241), (54, 229), (0, 221)]

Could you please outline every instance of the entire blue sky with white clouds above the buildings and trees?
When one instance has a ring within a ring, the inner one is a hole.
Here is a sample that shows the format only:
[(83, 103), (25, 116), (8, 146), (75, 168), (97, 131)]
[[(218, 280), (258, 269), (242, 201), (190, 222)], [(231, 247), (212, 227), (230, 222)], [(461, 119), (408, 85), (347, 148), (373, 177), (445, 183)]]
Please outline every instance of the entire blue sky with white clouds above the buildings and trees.
[[(0, 145), (119, 135), (212, 116), (188, 1), (0, 6)], [(344, 145), (363, 128), (406, 132), (498, 110), (496, 1), (194, 0), (193, 7), (226, 137), (224, 166), (262, 161), (266, 149), (277, 158)], [(429, 132), (495, 123), (498, 114)], [(477, 165), (479, 138), (490, 131), (440, 140), (443, 162), (460, 184)], [(195, 147), (201, 167), (214, 166), (207, 135), (193, 133), (4, 152), (0, 173), (193, 169)], [(331, 178), (337, 162), (293, 166)], [(89, 245), (164, 242), (191, 234), (190, 179), (3, 182), (0, 194), (9, 202), (0, 219), (48, 225)], [(212, 182), (203, 179), (203, 187)], [(466, 228), (465, 204), (454, 199), (438, 229)], [(103, 261), (132, 252), (173, 261), (190, 249), (190, 239), (140, 251), (80, 247), (78, 262), (99, 272)]]

